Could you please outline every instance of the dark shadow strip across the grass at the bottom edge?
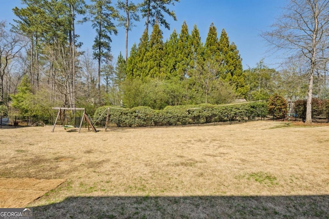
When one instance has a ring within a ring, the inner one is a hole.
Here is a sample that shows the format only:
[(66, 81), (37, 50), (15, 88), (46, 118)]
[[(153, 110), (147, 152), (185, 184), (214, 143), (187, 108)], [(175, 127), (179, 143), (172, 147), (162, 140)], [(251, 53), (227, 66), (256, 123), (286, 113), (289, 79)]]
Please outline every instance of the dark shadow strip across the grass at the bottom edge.
[(329, 218), (329, 195), (68, 197), (34, 218)]

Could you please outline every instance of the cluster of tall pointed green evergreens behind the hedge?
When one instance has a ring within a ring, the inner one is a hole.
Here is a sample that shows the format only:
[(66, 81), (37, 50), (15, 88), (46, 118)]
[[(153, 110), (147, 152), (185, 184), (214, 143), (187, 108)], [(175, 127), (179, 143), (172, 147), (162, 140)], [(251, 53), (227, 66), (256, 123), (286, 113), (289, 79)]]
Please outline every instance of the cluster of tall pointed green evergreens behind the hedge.
[[(163, 83), (156, 80), (176, 81), (171, 89), (172, 92), (179, 92), (168, 104), (219, 104), (230, 102), (235, 96), (245, 97), (248, 87), (243, 77), (239, 50), (234, 43), (229, 43), (225, 30), (218, 39), (214, 24), (210, 25), (205, 45), (196, 25), (190, 34), (184, 22), (180, 33), (174, 30), (163, 43), (162, 32), (159, 25), (155, 24), (150, 38), (147, 30), (143, 32), (138, 47), (132, 48), (127, 62), (127, 78), (131, 86), (141, 82), (141, 85), (146, 86), (140, 91), (145, 99), (156, 93), (149, 92), (147, 87), (155, 86), (157, 91), (163, 87)], [(162, 92), (166, 93), (166, 89)], [(158, 94), (159, 98), (164, 98), (160, 96)], [(151, 99), (144, 104), (151, 106), (151, 103), (156, 102), (153, 97)], [(135, 101), (130, 102), (136, 104)]]

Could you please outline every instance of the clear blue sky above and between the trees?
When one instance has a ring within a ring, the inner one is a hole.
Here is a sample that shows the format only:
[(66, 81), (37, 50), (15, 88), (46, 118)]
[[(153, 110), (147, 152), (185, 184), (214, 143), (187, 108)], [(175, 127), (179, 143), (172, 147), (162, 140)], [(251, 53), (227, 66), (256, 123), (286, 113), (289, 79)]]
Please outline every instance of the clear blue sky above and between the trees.
[[(134, 1), (134, 0), (133, 0)], [(0, 8), (0, 20), (13, 23), (15, 18), (12, 13), (12, 8), (24, 7), (21, 5), (21, 0), (2, 0)], [(86, 0), (88, 2), (88, 0)], [(113, 0), (112, 2), (116, 2)], [(140, 1), (136, 1), (140, 2)], [(197, 25), (202, 42), (206, 41), (209, 26), (214, 23), (217, 28), (218, 38), (224, 28), (228, 34), (230, 42), (234, 42), (240, 55), (243, 59), (244, 69), (255, 67), (255, 65), (265, 58), (265, 64), (275, 68), (278, 59), (276, 56), (269, 56), (266, 51), (266, 43), (259, 34), (261, 31), (269, 29), (269, 26), (275, 22), (275, 19), (280, 15), (281, 8), (288, 3), (287, 0), (180, 0), (175, 3), (173, 9), (177, 16), (177, 21), (168, 18), (170, 30), (160, 27), (163, 31), (163, 38), (169, 38), (173, 29), (179, 33), (181, 25), (184, 21), (187, 22), (189, 31), (191, 32), (194, 24)], [(145, 19), (141, 19), (136, 23), (129, 32), (128, 48), (136, 42), (145, 28)], [(118, 35), (112, 36), (112, 54), (116, 58), (121, 51), (124, 55), (124, 29), (118, 27)], [(80, 35), (80, 42), (83, 43), (83, 50), (92, 48), (95, 31), (90, 23), (77, 25), (76, 33)]]

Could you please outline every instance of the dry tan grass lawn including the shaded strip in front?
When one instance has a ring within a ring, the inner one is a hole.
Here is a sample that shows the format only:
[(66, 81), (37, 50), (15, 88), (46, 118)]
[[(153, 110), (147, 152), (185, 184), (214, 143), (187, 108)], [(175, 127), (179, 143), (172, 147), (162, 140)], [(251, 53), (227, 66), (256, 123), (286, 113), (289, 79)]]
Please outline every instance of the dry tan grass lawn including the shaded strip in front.
[(329, 126), (282, 122), (0, 129), (0, 177), (66, 179), (35, 218), (326, 218), (328, 147)]

